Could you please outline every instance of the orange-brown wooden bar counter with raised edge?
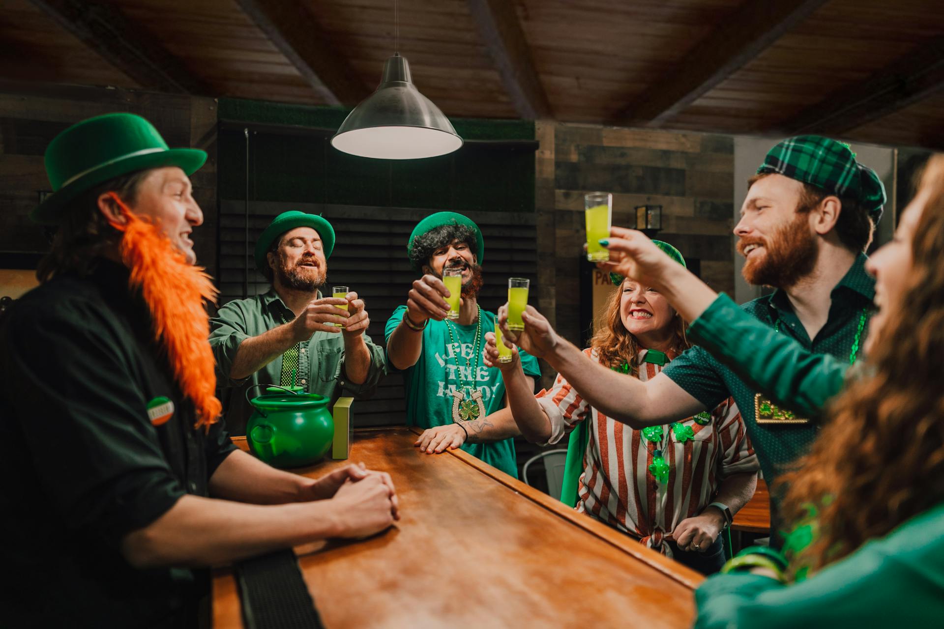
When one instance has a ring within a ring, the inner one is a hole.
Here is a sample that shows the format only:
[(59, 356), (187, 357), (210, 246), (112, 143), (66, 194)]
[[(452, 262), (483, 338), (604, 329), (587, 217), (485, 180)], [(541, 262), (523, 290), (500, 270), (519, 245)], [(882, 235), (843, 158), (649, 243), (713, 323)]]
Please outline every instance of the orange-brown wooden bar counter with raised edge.
[[(415, 439), (355, 432), (349, 461), (396, 484), (395, 527), (295, 548), (326, 627), (691, 625), (699, 573), (462, 451), (420, 453)], [(213, 626), (243, 626), (228, 570), (214, 574)]]

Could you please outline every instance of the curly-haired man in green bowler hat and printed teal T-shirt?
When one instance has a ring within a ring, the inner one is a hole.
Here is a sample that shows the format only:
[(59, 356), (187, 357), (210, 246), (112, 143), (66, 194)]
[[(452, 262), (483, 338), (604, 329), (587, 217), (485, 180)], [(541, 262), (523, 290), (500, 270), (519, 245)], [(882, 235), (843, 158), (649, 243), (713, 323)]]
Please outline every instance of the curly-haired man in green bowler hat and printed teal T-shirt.
[[(481, 363), (485, 333), (494, 331), (495, 314), (479, 306), (481, 261), (485, 243), (479, 225), (456, 212), (436, 212), (416, 224), (407, 241), (407, 256), (421, 277), (413, 282), (406, 306), (399, 306), (387, 321), (387, 356), (403, 370), (407, 422), (426, 428), (416, 445), (431, 454), (430, 441), (463, 436), (462, 448), (489, 465), (517, 477), (514, 456), (516, 429), (478, 440), (490, 427), (486, 415), (505, 403), (501, 373)], [(459, 318), (447, 319), (449, 294), (443, 273), (462, 273)], [(522, 354), (521, 364), (531, 389), (541, 372), (533, 356)], [(467, 434), (467, 439), (465, 435)]]

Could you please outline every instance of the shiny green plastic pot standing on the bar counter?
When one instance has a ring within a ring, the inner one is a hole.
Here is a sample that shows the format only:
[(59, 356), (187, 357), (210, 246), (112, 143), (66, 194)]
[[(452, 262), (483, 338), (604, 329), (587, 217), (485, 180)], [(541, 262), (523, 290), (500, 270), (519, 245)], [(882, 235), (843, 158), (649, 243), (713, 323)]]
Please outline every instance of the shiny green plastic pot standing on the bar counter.
[[(257, 387), (259, 385), (254, 385)], [(326, 455), (334, 439), (329, 399), (317, 393), (297, 393), (269, 387), (269, 392), (246, 400), (254, 412), (245, 427), (249, 451), (275, 468), (312, 465)]]

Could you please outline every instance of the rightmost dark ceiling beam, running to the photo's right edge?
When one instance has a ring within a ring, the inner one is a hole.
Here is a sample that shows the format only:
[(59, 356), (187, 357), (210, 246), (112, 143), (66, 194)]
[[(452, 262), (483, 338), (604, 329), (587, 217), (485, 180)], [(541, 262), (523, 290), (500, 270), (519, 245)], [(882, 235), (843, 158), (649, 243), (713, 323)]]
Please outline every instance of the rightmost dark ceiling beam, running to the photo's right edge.
[(791, 135), (840, 134), (944, 90), (944, 36), (920, 43), (863, 81), (827, 96), (784, 123)]

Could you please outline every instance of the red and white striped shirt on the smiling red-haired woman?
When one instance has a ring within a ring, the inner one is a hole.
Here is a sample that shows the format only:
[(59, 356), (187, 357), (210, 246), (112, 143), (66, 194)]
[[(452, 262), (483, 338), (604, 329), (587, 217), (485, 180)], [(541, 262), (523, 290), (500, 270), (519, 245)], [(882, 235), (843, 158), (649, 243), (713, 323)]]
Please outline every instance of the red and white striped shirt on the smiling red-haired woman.
[[(638, 377), (643, 381), (662, 371), (659, 365), (643, 362), (647, 351), (637, 356)], [(598, 359), (591, 349), (583, 353)], [(663, 539), (671, 539), (681, 521), (699, 515), (711, 504), (722, 479), (732, 473), (756, 472), (760, 467), (731, 398), (715, 408), (706, 425), (694, 418), (679, 422), (691, 426), (692, 439), (679, 441), (668, 424), (662, 427), (663, 456), (669, 465), (666, 483), (658, 483), (649, 472), (652, 453), (660, 444), (647, 441), (642, 431), (589, 406), (563, 376), (558, 375), (553, 388), (542, 390), (537, 398), (551, 423), (548, 443), (563, 439), (578, 422), (588, 418), (592, 422), (576, 510), (669, 555)]]

